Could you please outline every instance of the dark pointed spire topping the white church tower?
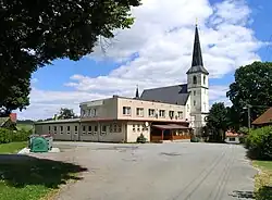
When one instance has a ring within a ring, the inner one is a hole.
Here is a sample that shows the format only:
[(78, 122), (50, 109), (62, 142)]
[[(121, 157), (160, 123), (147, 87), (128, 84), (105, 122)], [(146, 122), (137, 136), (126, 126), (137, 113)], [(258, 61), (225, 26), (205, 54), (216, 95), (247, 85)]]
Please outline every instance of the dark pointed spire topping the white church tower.
[(191, 67), (188, 70), (187, 74), (198, 73), (198, 72), (202, 72), (203, 74), (207, 75), (209, 74), (208, 71), (203, 67), (200, 39), (198, 34), (198, 27), (196, 24)]

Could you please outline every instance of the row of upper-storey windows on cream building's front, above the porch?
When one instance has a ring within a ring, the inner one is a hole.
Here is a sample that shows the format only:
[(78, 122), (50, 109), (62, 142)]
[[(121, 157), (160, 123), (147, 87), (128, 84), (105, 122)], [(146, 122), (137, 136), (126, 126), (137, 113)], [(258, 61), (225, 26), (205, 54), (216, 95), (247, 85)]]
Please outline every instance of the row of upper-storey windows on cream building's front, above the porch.
[[(156, 113), (154, 109), (148, 109), (148, 116), (159, 116), (159, 117), (165, 117), (166, 116), (165, 110), (159, 110), (159, 113)], [(175, 112), (169, 111), (169, 117), (174, 117)], [(132, 115), (132, 108), (131, 107), (123, 107), (123, 115)], [(136, 115), (137, 116), (144, 116), (144, 109), (143, 108), (136, 108)], [(177, 111), (177, 118), (183, 118), (183, 112)]]

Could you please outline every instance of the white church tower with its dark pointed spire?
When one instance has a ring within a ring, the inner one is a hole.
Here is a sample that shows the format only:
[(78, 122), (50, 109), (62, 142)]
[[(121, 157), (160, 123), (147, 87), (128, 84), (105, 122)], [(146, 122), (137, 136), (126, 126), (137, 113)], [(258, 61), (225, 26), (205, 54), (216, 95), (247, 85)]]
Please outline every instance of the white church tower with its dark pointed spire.
[(202, 53), (198, 34), (195, 29), (191, 66), (187, 74), (187, 89), (190, 92), (190, 118), (196, 135), (201, 135), (201, 127), (206, 125), (209, 113), (209, 72), (203, 66)]

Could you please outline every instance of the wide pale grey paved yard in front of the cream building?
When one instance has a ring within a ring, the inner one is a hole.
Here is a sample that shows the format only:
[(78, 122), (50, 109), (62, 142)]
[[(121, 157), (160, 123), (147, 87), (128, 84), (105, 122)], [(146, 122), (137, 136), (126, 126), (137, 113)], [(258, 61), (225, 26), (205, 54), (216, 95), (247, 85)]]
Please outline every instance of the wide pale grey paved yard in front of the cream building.
[[(64, 187), (58, 200), (250, 199), (257, 173), (245, 149), (213, 143), (59, 142), (54, 159), (88, 167), (84, 179)], [(76, 147), (77, 146), (77, 147)]]

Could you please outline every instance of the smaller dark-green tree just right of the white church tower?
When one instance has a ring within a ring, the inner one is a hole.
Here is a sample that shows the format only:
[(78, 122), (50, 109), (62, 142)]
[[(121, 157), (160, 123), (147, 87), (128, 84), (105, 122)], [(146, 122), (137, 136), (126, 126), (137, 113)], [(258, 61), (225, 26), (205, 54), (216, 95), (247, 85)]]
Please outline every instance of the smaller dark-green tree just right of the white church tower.
[(214, 103), (207, 117), (207, 130), (212, 134), (212, 139), (222, 141), (224, 132), (227, 129), (227, 109), (223, 102)]

